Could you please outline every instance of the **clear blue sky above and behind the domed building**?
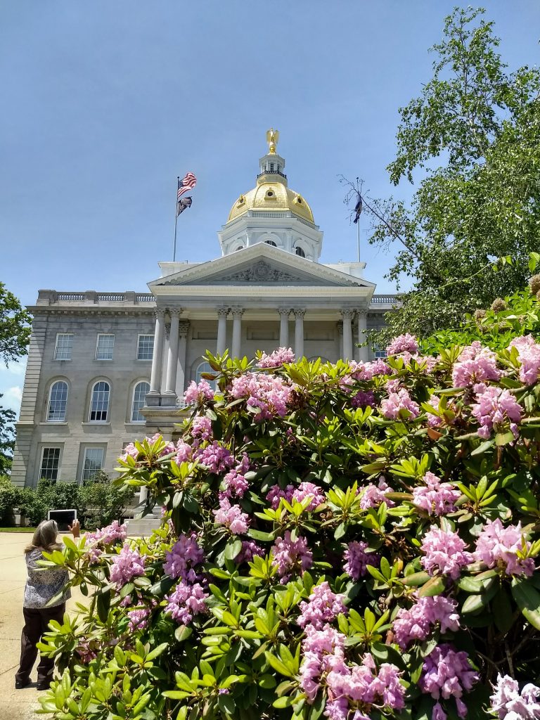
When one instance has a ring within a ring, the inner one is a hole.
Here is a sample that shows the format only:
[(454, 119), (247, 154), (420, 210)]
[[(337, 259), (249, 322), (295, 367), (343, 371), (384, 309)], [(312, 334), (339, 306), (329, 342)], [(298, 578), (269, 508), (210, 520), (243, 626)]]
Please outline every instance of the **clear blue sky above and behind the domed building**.
[[(265, 132), (325, 233), (321, 261), (356, 258), (338, 174), (390, 186), (397, 109), (431, 77), (442, 0), (19, 0), (0, 6), (0, 279), (145, 290), (171, 259), (176, 175), (193, 171), (179, 259), (220, 254), (216, 231), (254, 184)], [(540, 4), (485, 1), (510, 68), (537, 64)], [(365, 242), (378, 292), (391, 257)], [(18, 408), (23, 368), (0, 369)]]

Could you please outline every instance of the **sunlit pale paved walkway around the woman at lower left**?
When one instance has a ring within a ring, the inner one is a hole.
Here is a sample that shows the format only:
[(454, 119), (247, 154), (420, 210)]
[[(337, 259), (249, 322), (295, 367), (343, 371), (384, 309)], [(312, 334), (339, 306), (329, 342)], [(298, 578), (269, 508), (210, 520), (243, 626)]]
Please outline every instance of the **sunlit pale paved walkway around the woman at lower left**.
[[(32, 539), (30, 533), (0, 533), (0, 718), (1, 720), (30, 720), (49, 718), (35, 715), (40, 707), (34, 682), (23, 690), (15, 690), (15, 672), (19, 667), (22, 631), (22, 596), (26, 581), (23, 549)], [(77, 588), (68, 609), (73, 610), (83, 599)]]

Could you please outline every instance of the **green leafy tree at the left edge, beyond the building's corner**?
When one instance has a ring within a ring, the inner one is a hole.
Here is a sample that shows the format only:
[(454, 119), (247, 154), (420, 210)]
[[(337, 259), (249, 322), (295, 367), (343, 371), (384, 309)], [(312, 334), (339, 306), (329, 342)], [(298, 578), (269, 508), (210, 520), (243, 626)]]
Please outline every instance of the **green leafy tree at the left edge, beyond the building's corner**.
[[(0, 282), (0, 360), (6, 366), (26, 355), (30, 342), (30, 319), (30, 313)], [(11, 468), (15, 442), (14, 420), (14, 411), (0, 405), (0, 474)]]

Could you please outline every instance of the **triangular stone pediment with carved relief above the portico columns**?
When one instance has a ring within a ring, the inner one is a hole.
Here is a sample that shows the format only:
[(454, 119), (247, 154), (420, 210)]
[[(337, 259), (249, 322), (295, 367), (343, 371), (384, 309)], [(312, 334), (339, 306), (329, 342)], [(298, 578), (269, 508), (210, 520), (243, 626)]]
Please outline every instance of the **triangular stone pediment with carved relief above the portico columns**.
[(372, 283), (264, 243), (163, 277), (153, 286), (372, 287)]

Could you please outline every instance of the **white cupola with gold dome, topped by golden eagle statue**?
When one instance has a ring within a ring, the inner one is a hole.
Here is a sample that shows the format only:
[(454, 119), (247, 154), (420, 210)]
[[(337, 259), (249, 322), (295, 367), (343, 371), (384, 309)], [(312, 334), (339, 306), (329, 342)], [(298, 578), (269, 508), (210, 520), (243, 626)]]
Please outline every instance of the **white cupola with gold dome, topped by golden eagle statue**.
[(241, 194), (217, 233), (223, 255), (268, 243), (308, 260), (318, 261), (323, 233), (315, 225), (310, 205), (290, 189), (285, 160), (277, 153), (279, 132), (266, 132), (268, 152), (259, 160), (256, 186)]

